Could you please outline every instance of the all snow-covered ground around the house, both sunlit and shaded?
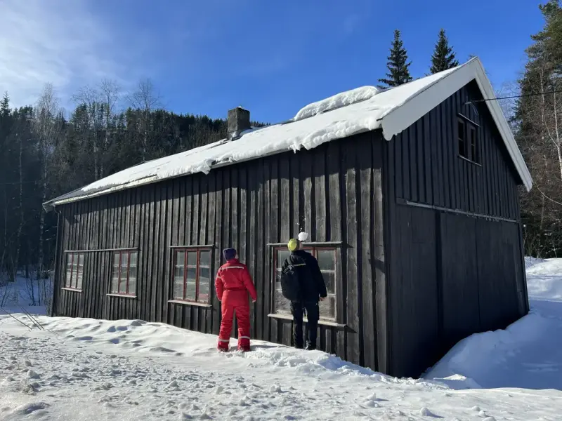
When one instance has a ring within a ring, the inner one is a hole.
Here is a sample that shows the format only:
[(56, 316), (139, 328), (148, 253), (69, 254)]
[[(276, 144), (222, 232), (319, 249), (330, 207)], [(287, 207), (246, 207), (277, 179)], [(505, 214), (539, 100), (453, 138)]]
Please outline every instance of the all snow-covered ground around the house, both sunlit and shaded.
[(258, 341), (217, 354), (159, 323), (0, 315), (0, 420), (560, 420), (562, 260), (534, 263), (531, 314), (459, 342), (426, 380)]

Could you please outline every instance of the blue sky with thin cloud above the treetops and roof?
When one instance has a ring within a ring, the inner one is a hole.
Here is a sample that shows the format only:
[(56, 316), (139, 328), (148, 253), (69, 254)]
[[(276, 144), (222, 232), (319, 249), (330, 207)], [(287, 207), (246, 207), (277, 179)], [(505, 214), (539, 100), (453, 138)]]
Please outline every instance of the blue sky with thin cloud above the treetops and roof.
[(384, 76), (400, 29), (414, 77), (444, 27), (460, 61), (478, 55), (496, 88), (514, 81), (541, 1), (0, 0), (0, 91), (34, 102), (44, 83), (60, 102), (115, 79), (152, 79), (174, 112), (225, 117), (242, 105), (276, 122), (301, 106)]

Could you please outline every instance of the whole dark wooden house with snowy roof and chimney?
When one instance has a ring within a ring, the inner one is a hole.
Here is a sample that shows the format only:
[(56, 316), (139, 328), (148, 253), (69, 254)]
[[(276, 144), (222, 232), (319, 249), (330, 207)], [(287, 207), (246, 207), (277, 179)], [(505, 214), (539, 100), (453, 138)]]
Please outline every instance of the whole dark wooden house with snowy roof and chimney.
[(214, 274), (233, 246), (259, 293), (252, 338), (291, 345), (278, 268), (304, 231), (329, 289), (319, 347), (418, 376), (528, 312), (518, 185), (531, 180), (491, 98), (473, 59), (266, 128), (234, 109), (226, 140), (45, 203), (59, 213), (53, 313), (216, 334)]

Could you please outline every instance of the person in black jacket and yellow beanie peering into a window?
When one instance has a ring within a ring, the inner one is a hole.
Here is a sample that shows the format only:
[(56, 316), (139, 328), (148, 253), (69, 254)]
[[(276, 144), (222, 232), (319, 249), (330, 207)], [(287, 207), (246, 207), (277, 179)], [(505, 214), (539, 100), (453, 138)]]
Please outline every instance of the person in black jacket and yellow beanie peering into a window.
[(293, 339), (296, 348), (303, 347), (303, 316), (306, 311), (308, 318), (308, 341), (306, 349), (316, 349), (318, 336), (318, 319), (320, 319), (320, 309), (318, 300), (324, 301), (327, 297), (326, 283), (318, 260), (310, 253), (301, 250), (301, 243), (297, 239), (291, 239), (287, 248), (291, 254), (282, 266), (282, 272), (289, 265), (293, 265), (299, 276), (301, 286), (301, 301), (291, 302), (291, 313), (293, 315)]

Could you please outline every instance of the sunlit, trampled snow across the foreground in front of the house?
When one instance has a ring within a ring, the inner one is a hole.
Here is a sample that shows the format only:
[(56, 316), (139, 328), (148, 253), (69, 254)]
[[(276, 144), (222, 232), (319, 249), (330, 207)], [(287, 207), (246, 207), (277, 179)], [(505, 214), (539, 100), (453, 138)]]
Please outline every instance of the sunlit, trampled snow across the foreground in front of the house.
[(219, 354), (213, 335), (161, 323), (37, 321), (44, 330), (0, 318), (1, 420), (554, 420), (562, 409), (559, 394), (455, 391), (267, 342)]

